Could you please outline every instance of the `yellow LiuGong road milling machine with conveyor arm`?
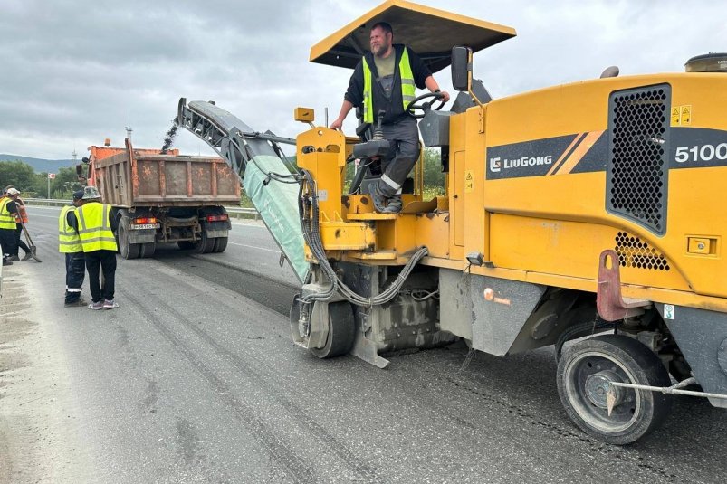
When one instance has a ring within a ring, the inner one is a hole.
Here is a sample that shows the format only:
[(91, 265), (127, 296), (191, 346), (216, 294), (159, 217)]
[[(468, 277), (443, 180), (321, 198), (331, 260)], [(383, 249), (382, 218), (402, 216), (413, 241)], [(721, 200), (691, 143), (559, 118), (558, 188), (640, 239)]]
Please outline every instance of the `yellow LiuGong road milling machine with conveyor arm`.
[(299, 108), (311, 128), (292, 140), (180, 101), (178, 123), (241, 176), (301, 279), (295, 342), (379, 367), (456, 338), (495, 356), (554, 346), (569, 417), (615, 444), (655, 430), (673, 394), (727, 407), (727, 55), (492, 99), (472, 55), (511, 27), (390, 0), (311, 62), (353, 68), (378, 21), (432, 71), (451, 66), (460, 91), (449, 110), (436, 94), (408, 106), (446, 183), (426, 200), (415, 169), (400, 214), (368, 195), (387, 147), (377, 127), (349, 138)]

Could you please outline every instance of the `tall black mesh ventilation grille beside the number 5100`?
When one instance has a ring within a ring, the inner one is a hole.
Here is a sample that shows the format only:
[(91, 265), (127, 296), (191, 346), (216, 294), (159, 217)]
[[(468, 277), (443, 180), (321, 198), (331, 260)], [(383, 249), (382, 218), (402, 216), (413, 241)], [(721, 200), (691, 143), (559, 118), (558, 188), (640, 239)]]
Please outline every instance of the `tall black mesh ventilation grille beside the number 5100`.
[(608, 104), (607, 208), (658, 234), (666, 231), (670, 103), (664, 84), (614, 92)]

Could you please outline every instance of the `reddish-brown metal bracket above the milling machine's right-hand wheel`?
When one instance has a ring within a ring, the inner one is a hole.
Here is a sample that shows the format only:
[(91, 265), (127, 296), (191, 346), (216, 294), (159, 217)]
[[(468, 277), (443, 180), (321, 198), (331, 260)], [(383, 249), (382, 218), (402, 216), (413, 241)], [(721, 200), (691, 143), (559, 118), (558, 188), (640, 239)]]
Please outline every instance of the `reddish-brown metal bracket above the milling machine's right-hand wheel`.
[(618, 270), (618, 254), (612, 249), (602, 251), (598, 260), (598, 316), (606, 321), (633, 318), (644, 314), (651, 305), (646, 299), (621, 297), (621, 276)]

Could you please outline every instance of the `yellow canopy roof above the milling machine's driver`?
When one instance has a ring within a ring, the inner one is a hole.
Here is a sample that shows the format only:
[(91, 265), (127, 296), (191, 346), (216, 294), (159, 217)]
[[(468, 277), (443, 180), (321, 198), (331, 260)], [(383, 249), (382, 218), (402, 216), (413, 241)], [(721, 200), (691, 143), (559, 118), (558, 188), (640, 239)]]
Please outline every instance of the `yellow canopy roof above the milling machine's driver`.
[(313, 45), (311, 62), (353, 69), (368, 51), (371, 26), (382, 21), (394, 28), (394, 43), (406, 44), (433, 72), (450, 64), (455, 45), (467, 45), (477, 52), (516, 35), (515, 29), (505, 25), (405, 0), (387, 0)]

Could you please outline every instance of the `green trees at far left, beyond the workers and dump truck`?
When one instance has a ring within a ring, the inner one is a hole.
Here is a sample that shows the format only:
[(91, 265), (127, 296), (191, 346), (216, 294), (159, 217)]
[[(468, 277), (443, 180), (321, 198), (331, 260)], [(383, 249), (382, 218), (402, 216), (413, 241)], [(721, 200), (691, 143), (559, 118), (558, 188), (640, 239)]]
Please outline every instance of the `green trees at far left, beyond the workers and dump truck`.
[(24, 197), (57, 199), (71, 198), (74, 191), (83, 187), (74, 167), (59, 168), (55, 178), (51, 180), (49, 196), (48, 173), (35, 173), (33, 166), (22, 161), (0, 161), (0, 185), (13, 185)]

